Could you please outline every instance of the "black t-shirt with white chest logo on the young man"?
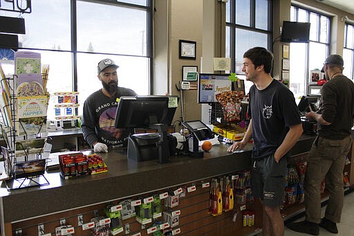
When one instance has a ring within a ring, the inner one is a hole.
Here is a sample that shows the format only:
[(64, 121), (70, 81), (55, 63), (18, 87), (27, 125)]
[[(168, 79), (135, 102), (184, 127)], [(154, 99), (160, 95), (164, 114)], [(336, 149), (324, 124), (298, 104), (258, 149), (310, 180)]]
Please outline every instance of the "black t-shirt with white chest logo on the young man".
[(301, 124), (299, 110), (292, 92), (281, 82), (273, 80), (263, 90), (250, 89), (253, 153), (259, 159), (275, 152), (291, 125)]

